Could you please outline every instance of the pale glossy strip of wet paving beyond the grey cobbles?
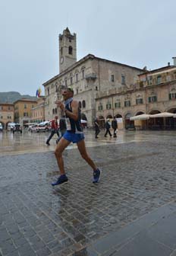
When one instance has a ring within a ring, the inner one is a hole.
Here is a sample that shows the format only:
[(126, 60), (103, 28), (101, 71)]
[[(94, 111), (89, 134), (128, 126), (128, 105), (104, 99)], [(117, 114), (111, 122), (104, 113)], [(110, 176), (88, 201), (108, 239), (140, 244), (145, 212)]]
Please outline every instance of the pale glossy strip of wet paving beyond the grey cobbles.
[[(157, 139), (157, 136), (167, 138), (174, 135), (175, 132), (149, 132), (149, 131), (119, 131), (117, 138), (104, 137), (104, 131), (100, 133), (99, 139), (95, 139), (93, 130), (85, 130), (85, 141), (87, 147), (102, 146), (108, 144), (120, 144), (128, 142), (143, 142), (148, 140)], [(15, 155), (24, 154), (29, 152), (49, 152), (55, 149), (55, 135), (50, 144), (46, 145), (46, 139), (49, 133), (30, 133), (24, 130), (22, 134), (3, 132), (0, 133), (0, 155)], [(77, 148), (76, 145), (71, 144), (67, 149)]]

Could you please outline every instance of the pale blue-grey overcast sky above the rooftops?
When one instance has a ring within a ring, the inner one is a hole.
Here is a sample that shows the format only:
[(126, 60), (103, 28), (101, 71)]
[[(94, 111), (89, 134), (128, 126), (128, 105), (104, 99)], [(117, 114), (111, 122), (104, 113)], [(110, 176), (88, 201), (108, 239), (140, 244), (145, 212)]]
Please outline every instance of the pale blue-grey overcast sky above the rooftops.
[(0, 0), (0, 91), (36, 94), (58, 75), (58, 34), (88, 53), (157, 69), (176, 56), (175, 0)]

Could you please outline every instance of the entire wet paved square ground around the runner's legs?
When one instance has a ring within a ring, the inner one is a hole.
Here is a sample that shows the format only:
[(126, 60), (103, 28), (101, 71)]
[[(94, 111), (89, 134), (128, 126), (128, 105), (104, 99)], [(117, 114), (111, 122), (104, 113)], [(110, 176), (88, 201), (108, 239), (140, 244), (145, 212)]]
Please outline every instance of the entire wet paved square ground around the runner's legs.
[(52, 188), (55, 139), (0, 133), (0, 255), (176, 255), (176, 132), (85, 134), (101, 181), (71, 145)]

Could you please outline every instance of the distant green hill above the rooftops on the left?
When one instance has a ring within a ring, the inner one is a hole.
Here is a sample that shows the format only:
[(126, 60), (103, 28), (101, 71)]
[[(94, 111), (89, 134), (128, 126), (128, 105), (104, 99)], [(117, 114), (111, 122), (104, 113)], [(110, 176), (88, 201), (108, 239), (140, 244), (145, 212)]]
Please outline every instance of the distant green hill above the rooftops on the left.
[(21, 98), (36, 100), (36, 97), (30, 95), (21, 95), (17, 91), (0, 92), (0, 103), (14, 103)]

